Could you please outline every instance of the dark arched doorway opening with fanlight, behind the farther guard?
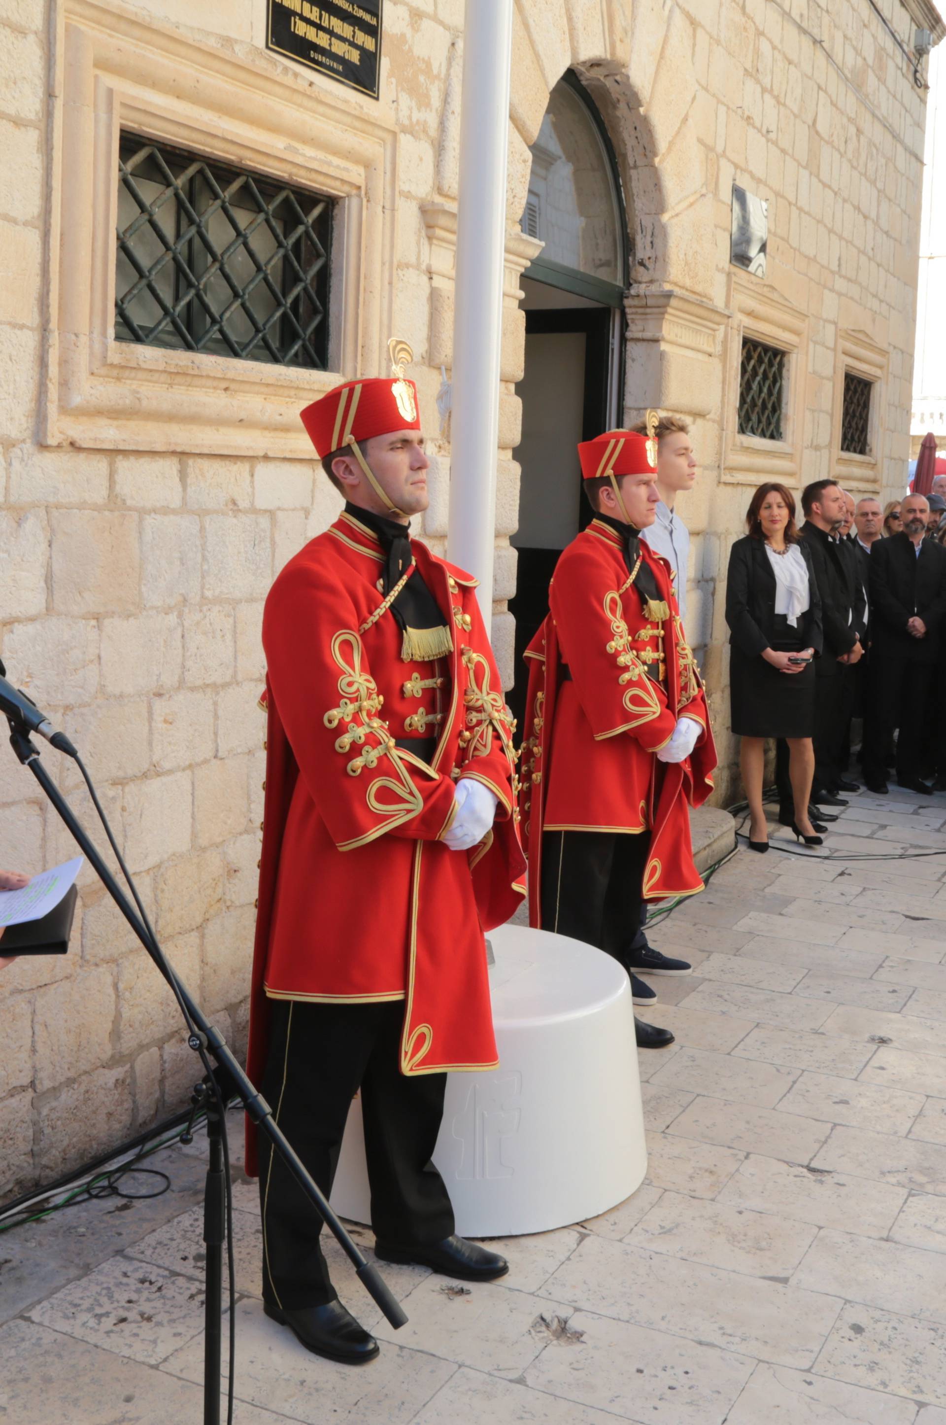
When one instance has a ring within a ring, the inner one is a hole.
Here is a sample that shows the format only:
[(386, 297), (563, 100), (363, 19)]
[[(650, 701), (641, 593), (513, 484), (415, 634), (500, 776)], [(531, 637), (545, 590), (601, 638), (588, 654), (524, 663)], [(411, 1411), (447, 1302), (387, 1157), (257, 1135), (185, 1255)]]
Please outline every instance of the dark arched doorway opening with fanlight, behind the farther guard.
[(576, 446), (624, 412), (627, 195), (604, 121), (574, 71), (554, 86), (531, 150), (521, 228), (544, 247), (521, 278), (526, 314), (517, 550), (516, 684), (523, 651), (549, 611), (558, 554), (590, 519)]

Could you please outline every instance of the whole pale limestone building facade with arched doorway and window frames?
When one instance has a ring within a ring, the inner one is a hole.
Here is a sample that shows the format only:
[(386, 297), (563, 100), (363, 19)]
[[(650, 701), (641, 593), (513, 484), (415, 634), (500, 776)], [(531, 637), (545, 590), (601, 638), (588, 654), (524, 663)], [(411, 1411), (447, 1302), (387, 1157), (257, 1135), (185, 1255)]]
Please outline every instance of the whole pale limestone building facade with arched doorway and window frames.
[[(836, 472), (886, 493), (908, 457), (925, 93), (896, 37), (909, 47), (925, 24), (939, 40), (942, 23), (929, 0), (878, 4), (519, 0), (514, 13), (494, 641), (511, 681), (521, 294), (541, 252), (524, 214), (531, 145), (568, 74), (627, 228), (614, 416), (658, 406), (694, 426), (688, 623), (722, 801), (721, 591), (751, 489)], [(0, 656), (81, 747), (170, 958), (238, 1046), (262, 600), (338, 507), (298, 410), (339, 372), (382, 372), (390, 335), (415, 349), (437, 456), (423, 534), (440, 549), (447, 532), (449, 428), (433, 412), (452, 366), (463, 9), (385, 0), (375, 100), (269, 53), (265, 0), (0, 0)], [(331, 201), (328, 370), (114, 339), (125, 133)], [(768, 202), (764, 276), (729, 261), (734, 184)], [(738, 429), (745, 339), (781, 353), (776, 439)], [(870, 382), (859, 455), (841, 447), (848, 372)], [(533, 428), (553, 419), (533, 405)], [(88, 817), (73, 768), (46, 760)], [(36, 791), (0, 757), (0, 865), (70, 854)], [(195, 1077), (168, 993), (88, 876), (68, 956), (4, 970), (0, 1023), (0, 1194), (121, 1141)]]

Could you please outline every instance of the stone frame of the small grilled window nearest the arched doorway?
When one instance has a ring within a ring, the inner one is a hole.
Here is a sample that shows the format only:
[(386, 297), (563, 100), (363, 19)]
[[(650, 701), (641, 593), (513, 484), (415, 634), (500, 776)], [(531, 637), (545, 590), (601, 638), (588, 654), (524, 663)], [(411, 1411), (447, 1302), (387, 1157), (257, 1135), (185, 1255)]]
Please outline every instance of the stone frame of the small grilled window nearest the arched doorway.
[[(808, 315), (771, 284), (748, 274), (729, 274), (729, 329), (722, 388), (722, 470), (725, 484), (778, 480), (799, 486), (805, 440), (805, 373)], [(765, 440), (739, 435), (739, 369), (742, 338), (785, 352), (784, 437)]]

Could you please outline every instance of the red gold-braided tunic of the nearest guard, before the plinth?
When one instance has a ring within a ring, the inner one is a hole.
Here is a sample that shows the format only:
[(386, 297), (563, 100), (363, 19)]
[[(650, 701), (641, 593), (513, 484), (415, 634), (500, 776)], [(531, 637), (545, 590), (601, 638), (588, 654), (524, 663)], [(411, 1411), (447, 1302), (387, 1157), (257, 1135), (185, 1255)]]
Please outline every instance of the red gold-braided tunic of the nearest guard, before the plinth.
[[(410, 551), (452, 631), (437, 661), (402, 657), (379, 593), (380, 543), (348, 513), (286, 564), (266, 600), (255, 1083), (272, 998), (403, 999), (405, 1074), (497, 1063), (483, 931), (509, 919), (526, 889), (511, 724), (476, 580), (425, 544), (412, 540)], [(395, 747), (432, 732), (430, 764)], [(459, 777), (499, 798), (470, 852), (440, 841)]]

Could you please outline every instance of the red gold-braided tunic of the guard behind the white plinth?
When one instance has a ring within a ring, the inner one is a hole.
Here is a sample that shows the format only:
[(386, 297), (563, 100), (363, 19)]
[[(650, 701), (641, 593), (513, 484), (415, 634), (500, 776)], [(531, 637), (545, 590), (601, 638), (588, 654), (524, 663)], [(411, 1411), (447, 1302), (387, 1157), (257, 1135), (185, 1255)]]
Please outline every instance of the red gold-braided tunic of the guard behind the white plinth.
[[(702, 889), (687, 804), (712, 789), (715, 747), (707, 703), (684, 636), (667, 560), (638, 542), (628, 576), (624, 539), (603, 520), (564, 550), (550, 613), (526, 651), (531, 660), (520, 805), (529, 854), (530, 921), (540, 925), (544, 831), (650, 829), (645, 899)], [(640, 561), (660, 598), (637, 589)], [(660, 762), (685, 715), (704, 732), (684, 762)]]

